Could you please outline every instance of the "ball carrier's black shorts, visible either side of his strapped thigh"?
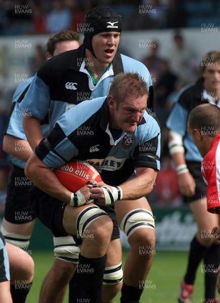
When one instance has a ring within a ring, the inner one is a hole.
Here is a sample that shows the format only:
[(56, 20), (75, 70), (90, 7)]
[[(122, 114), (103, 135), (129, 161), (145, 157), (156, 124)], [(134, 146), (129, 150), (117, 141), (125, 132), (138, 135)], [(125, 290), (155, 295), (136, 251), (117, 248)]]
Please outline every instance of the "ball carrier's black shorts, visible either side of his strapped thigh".
[[(46, 194), (36, 186), (31, 186), (29, 191), (30, 204), (36, 214), (37, 218), (51, 230), (55, 237), (67, 236), (68, 233), (63, 227), (64, 210), (66, 203)], [(119, 225), (116, 218), (116, 213), (112, 207), (101, 207), (113, 221), (112, 239), (120, 238)], [(79, 239), (73, 236), (77, 243)]]

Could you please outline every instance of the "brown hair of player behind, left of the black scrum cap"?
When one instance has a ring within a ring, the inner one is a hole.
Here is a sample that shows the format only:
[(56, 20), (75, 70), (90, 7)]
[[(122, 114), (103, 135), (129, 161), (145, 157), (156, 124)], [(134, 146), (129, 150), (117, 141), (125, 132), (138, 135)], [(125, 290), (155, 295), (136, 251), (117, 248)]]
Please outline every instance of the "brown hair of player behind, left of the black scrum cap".
[(78, 41), (81, 44), (80, 35), (73, 30), (61, 30), (51, 35), (46, 43), (46, 52), (53, 56), (58, 42)]

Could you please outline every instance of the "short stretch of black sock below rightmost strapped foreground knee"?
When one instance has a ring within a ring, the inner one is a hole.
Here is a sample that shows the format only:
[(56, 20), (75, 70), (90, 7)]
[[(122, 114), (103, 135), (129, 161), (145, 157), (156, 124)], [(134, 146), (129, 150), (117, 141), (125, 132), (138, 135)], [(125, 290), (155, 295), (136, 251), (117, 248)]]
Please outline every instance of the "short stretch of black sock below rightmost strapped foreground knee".
[(139, 303), (143, 287), (128, 286), (123, 283), (121, 303)]

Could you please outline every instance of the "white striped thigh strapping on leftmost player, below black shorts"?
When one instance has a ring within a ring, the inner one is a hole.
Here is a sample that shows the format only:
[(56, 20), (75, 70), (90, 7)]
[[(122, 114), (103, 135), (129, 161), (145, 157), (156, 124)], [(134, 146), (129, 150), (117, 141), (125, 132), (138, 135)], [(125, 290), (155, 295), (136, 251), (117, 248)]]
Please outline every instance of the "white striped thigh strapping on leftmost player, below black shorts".
[(30, 244), (31, 235), (23, 236), (16, 233), (8, 232), (3, 226), (1, 227), (1, 232), (3, 233), (7, 243), (13, 244), (24, 250), (28, 248)]

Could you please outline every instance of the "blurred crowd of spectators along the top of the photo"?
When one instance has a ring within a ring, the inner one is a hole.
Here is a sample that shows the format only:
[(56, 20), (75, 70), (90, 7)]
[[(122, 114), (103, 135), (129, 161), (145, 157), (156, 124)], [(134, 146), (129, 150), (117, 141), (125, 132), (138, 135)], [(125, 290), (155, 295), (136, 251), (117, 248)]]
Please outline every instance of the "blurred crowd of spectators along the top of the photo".
[[(0, 34), (76, 30), (86, 12), (97, 5), (115, 9), (122, 16), (123, 30), (196, 27), (204, 17), (206, 22), (220, 22), (218, 0), (1, 0)], [(32, 12), (16, 14), (15, 6), (27, 6)], [(154, 10), (154, 13), (140, 15), (139, 8)]]

